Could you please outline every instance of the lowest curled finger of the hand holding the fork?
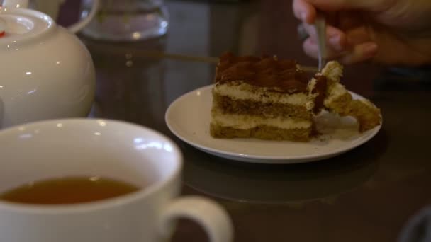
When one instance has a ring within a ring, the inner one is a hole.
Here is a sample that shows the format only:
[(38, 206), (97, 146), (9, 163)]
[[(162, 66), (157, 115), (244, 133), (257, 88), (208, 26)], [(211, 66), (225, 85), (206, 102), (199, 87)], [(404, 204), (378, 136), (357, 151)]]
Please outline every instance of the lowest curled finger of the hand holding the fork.
[(364, 62), (376, 56), (379, 48), (375, 42), (364, 42), (361, 45), (355, 45), (350, 52), (340, 57), (342, 64), (354, 64)]

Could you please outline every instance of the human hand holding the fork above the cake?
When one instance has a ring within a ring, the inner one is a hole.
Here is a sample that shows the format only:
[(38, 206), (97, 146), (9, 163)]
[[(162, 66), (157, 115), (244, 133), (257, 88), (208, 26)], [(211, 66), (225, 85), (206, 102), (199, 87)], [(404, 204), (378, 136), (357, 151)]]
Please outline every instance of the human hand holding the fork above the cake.
[(430, 0), (293, 0), (293, 12), (310, 35), (303, 49), (317, 58), (316, 9), (328, 19), (328, 59), (343, 64), (431, 63)]

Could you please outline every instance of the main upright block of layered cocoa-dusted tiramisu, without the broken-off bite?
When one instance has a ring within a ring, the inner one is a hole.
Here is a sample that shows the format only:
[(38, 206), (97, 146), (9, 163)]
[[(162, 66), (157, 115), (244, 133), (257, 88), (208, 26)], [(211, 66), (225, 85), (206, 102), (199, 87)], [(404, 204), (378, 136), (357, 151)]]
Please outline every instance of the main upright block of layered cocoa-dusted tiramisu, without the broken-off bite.
[[(325, 85), (315, 86), (325, 92)], [(310, 96), (318, 93), (310, 91), (294, 61), (223, 54), (213, 87), (211, 135), (308, 141), (315, 108)]]

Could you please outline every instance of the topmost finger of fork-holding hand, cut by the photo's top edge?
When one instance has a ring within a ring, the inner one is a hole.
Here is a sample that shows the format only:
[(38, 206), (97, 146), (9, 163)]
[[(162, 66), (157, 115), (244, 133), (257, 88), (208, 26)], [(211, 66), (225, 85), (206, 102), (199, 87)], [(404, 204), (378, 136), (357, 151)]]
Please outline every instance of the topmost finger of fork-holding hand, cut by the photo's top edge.
[(340, 11), (349, 9), (366, 9), (367, 11), (384, 11), (391, 1), (386, 0), (306, 0), (307, 4), (323, 11)]

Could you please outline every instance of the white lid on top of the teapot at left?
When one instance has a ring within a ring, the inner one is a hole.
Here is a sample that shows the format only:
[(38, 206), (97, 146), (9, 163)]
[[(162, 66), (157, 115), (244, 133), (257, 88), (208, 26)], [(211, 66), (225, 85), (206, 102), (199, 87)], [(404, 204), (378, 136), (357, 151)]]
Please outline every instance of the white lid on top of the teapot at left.
[(50, 32), (54, 27), (55, 22), (45, 13), (0, 6), (0, 46), (33, 39)]

